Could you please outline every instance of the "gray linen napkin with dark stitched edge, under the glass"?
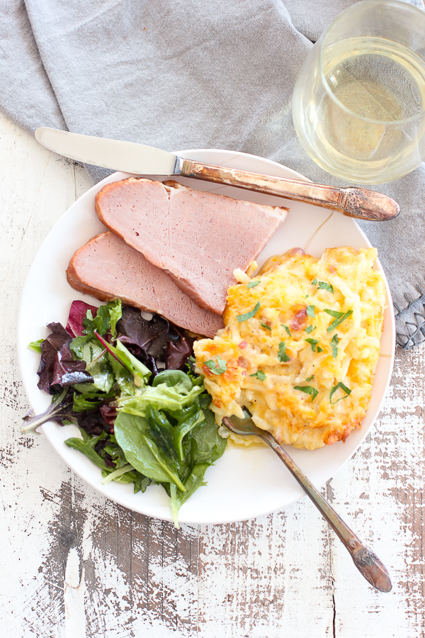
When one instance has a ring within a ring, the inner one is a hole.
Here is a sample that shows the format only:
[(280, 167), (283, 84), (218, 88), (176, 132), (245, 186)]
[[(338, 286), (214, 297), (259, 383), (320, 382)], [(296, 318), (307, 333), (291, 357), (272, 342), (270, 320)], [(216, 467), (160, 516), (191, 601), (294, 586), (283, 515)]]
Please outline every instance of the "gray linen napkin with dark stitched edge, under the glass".
[[(165, 150), (227, 148), (346, 185), (297, 141), (290, 100), (312, 42), (352, 0), (1, 0), (0, 109), (40, 125)], [(412, 3), (424, 9), (421, 0)], [(98, 181), (108, 174), (87, 167)], [(392, 222), (361, 223), (378, 248), (397, 342), (425, 341), (425, 164), (378, 190)]]

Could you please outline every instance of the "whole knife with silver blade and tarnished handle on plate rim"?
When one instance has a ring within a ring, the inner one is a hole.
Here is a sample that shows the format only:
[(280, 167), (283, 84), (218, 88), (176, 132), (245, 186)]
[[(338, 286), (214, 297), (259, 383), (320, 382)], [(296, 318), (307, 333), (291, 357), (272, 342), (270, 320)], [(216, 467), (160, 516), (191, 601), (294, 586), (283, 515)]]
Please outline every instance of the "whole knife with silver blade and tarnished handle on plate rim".
[(229, 167), (203, 164), (184, 159), (152, 146), (108, 140), (91, 135), (68, 133), (64, 130), (42, 126), (35, 131), (35, 138), (46, 148), (84, 164), (123, 171), (135, 175), (181, 175), (206, 179), (217, 184), (238, 186), (242, 189), (277, 195), (286, 199), (305, 201), (331, 208), (348, 217), (371, 221), (394, 219), (399, 214), (397, 202), (376, 191), (357, 187), (338, 189), (311, 181), (283, 179)]

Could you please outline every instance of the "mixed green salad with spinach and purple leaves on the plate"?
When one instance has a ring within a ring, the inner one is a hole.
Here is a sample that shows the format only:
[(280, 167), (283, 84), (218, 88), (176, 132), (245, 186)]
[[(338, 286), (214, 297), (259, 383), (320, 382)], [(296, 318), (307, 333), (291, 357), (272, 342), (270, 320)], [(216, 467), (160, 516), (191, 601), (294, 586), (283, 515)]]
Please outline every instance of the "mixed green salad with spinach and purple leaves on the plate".
[(101, 469), (103, 483), (132, 483), (135, 492), (160, 483), (178, 526), (181, 505), (226, 447), (193, 369), (193, 337), (120, 300), (100, 308), (74, 301), (67, 328), (47, 327), (50, 335), (29, 347), (41, 354), (38, 387), (52, 404), (28, 413), (23, 432), (74, 423), (81, 438), (65, 443)]

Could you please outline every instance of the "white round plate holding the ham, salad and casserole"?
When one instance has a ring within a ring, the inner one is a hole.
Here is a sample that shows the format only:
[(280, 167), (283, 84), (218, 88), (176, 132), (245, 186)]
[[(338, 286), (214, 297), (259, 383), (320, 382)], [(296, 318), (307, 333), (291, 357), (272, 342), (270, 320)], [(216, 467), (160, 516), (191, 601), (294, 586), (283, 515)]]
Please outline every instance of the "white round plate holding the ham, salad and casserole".
[[(258, 173), (306, 180), (305, 177), (281, 164), (268, 159), (225, 150), (181, 151), (188, 159), (198, 159), (209, 164), (221, 164)], [(46, 238), (30, 269), (18, 317), (18, 359), (23, 384), (30, 404), (36, 413), (44, 411), (51, 399), (37, 387), (39, 357), (27, 345), (47, 336), (47, 323), (60, 321), (65, 325), (69, 306), (74, 299), (83, 299), (98, 305), (91, 296), (74, 291), (65, 276), (69, 259), (77, 248), (105, 228), (96, 217), (94, 198), (96, 193), (118, 179), (130, 177), (115, 173), (86, 192), (62, 216)], [(149, 176), (152, 177), (152, 176)], [(165, 180), (164, 177), (153, 179)], [(168, 178), (169, 179), (169, 178)], [(317, 208), (305, 203), (286, 201), (231, 186), (211, 184), (198, 179), (178, 179), (193, 189), (213, 191), (237, 199), (246, 199), (274, 206), (288, 206), (290, 213), (283, 225), (268, 242), (257, 259), (261, 265), (273, 254), (281, 254), (292, 247), (319, 257), (327, 247), (349, 245), (354, 248), (370, 247), (356, 222), (327, 208)], [(380, 264), (378, 269), (382, 272)], [(390, 381), (395, 354), (395, 321), (390, 291), (387, 286), (387, 308), (382, 349), (375, 374), (372, 400), (361, 430), (355, 430), (343, 444), (338, 442), (314, 452), (288, 448), (293, 459), (307, 474), (312, 483), (322, 486), (349, 459), (361, 444), (380, 410)], [(69, 449), (64, 440), (78, 435), (73, 425), (60, 427), (54, 422), (42, 426), (42, 432), (52, 446), (81, 478), (96, 491), (131, 510), (163, 520), (172, 520), (169, 498), (161, 486), (149, 486), (145, 493), (134, 494), (131, 485), (101, 483), (101, 471), (82, 454)], [(186, 523), (223, 523), (246, 520), (284, 508), (304, 495), (295, 479), (271, 449), (254, 446), (239, 449), (229, 445), (225, 454), (214, 466), (208, 468), (206, 487), (201, 487), (183, 505), (180, 521)]]

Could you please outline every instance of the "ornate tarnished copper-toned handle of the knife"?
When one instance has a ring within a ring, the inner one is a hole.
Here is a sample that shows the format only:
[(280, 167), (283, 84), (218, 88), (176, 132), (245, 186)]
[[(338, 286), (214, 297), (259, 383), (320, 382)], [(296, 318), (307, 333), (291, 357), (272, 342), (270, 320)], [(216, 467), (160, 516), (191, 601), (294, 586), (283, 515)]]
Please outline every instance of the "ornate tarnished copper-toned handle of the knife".
[(215, 181), (217, 184), (238, 186), (241, 189), (277, 195), (295, 201), (305, 201), (314, 204), (314, 206), (331, 208), (357, 219), (386, 221), (394, 219), (400, 212), (399, 205), (394, 199), (376, 191), (356, 187), (338, 189), (334, 186), (313, 184), (311, 181), (295, 181), (294, 179), (213, 166), (212, 164), (202, 164), (193, 159), (184, 159), (181, 175)]

